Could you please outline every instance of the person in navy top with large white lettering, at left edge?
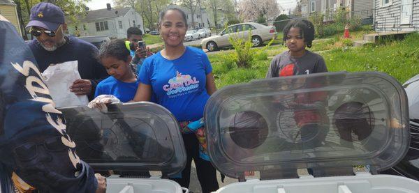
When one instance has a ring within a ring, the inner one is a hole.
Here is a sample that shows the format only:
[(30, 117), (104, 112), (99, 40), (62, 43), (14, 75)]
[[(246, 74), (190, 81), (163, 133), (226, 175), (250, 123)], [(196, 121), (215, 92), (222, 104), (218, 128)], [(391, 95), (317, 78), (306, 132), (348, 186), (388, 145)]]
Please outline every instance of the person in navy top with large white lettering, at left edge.
[(0, 82), (0, 192), (105, 192), (75, 153), (31, 49), (1, 15)]

